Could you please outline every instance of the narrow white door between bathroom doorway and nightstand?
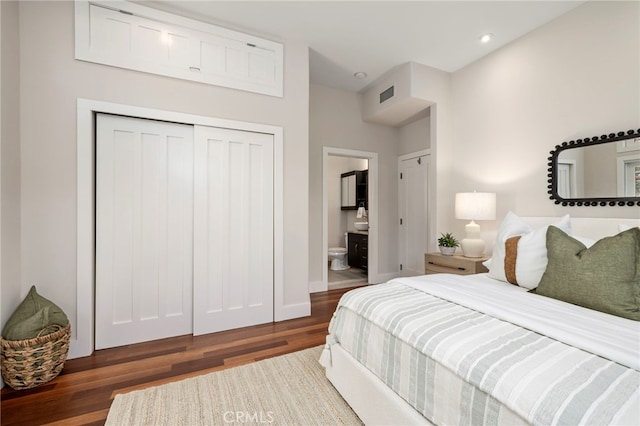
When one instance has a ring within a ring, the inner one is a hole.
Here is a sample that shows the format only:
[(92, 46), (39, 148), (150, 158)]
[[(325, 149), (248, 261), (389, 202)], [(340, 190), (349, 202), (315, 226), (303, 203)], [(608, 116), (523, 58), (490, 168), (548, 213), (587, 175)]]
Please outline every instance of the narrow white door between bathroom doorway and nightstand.
[(424, 254), (429, 242), (429, 156), (401, 161), (400, 173), (401, 274), (424, 275)]

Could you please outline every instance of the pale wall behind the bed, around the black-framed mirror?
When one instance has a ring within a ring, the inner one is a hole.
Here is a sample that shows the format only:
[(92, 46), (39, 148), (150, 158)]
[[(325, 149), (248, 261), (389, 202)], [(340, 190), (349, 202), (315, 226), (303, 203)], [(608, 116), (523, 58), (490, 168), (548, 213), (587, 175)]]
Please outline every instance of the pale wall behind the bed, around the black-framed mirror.
[[(453, 74), (455, 160), (448, 197), (494, 191), (499, 219), (508, 210), (638, 217), (637, 207), (558, 206), (546, 183), (555, 145), (638, 128), (638, 28), (640, 3), (590, 1)], [(450, 217), (447, 229), (438, 231), (462, 233), (463, 227)]]

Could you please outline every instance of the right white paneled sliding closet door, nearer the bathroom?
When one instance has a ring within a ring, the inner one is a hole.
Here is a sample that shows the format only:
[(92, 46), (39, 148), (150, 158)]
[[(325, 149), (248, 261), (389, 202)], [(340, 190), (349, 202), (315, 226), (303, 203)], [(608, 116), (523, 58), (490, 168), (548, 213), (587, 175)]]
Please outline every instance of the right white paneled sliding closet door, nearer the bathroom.
[(273, 135), (195, 128), (194, 334), (273, 321)]

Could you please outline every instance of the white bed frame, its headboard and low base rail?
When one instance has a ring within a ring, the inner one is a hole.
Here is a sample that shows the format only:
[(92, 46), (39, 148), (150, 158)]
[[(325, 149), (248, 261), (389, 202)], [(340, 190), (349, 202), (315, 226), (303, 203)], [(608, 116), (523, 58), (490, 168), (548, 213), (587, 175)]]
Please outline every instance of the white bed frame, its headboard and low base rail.
[[(523, 219), (534, 229), (558, 220), (555, 217)], [(619, 225), (640, 226), (640, 219), (571, 218), (572, 234), (593, 240), (617, 234)], [(327, 342), (329, 340), (327, 338)], [(364, 424), (432, 425), (340, 344), (330, 347), (331, 365), (326, 368), (327, 378)]]

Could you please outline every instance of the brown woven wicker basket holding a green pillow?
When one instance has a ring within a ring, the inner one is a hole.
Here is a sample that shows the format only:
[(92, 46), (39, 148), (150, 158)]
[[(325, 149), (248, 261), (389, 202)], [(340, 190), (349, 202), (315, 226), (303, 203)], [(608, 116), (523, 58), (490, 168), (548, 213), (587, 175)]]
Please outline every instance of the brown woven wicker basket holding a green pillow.
[(71, 325), (27, 340), (2, 339), (2, 379), (13, 389), (31, 389), (54, 379), (64, 367)]

